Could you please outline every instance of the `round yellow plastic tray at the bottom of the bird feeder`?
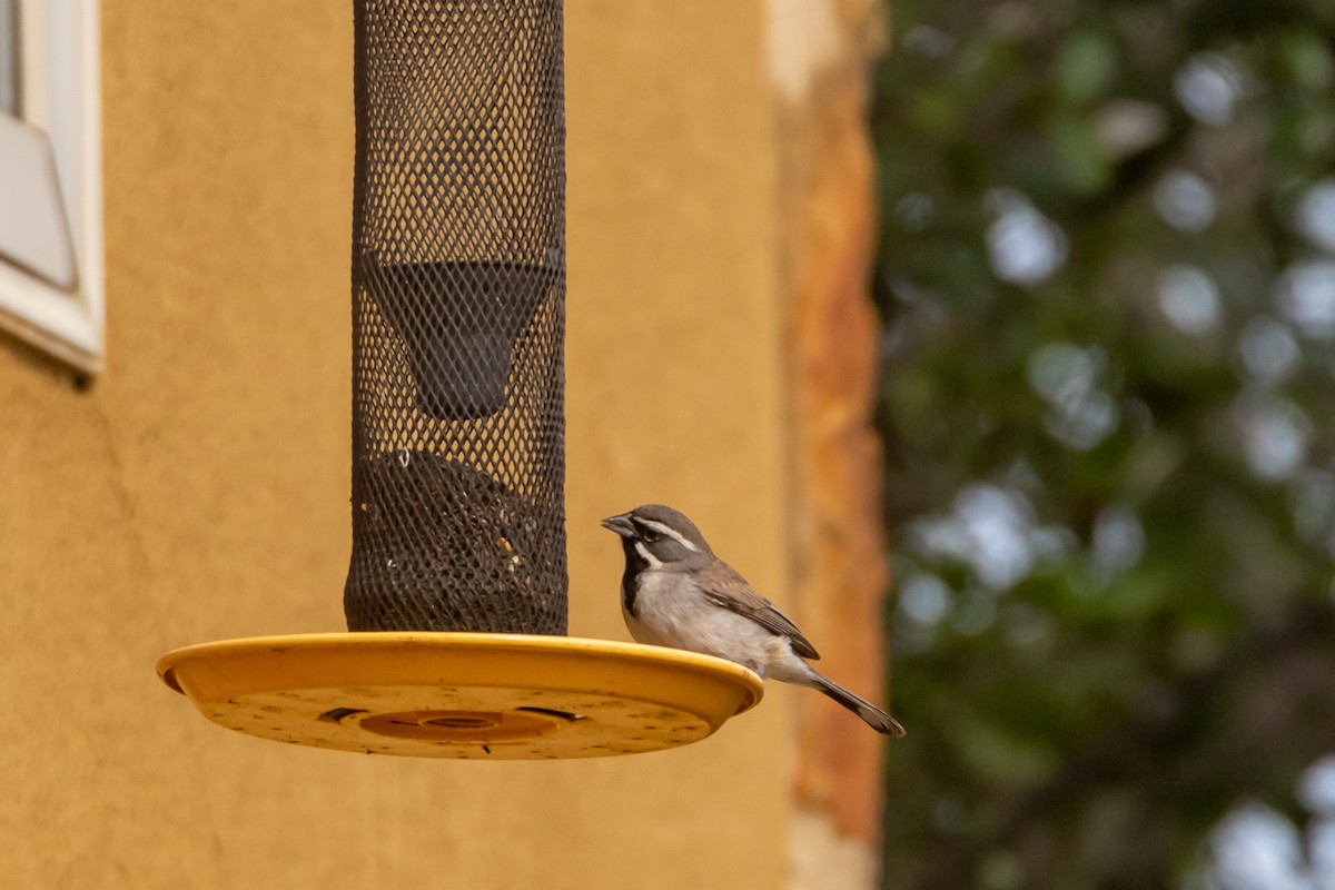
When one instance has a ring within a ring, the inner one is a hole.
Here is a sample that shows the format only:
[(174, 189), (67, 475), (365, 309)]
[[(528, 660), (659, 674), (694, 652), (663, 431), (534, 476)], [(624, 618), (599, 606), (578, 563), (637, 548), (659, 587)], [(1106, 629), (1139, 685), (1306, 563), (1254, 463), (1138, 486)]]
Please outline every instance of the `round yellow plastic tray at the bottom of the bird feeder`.
[(517, 634), (360, 632), (190, 646), (167, 686), (230, 730), (367, 754), (558, 759), (698, 742), (760, 677), (676, 648)]

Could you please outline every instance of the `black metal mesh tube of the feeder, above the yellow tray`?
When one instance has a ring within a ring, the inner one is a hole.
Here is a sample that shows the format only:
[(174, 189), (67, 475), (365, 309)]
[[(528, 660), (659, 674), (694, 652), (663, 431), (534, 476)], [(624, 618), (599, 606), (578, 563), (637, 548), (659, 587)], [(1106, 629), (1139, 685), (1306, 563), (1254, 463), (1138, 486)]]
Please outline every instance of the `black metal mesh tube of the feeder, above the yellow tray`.
[(354, 0), (350, 630), (563, 634), (561, 0)]

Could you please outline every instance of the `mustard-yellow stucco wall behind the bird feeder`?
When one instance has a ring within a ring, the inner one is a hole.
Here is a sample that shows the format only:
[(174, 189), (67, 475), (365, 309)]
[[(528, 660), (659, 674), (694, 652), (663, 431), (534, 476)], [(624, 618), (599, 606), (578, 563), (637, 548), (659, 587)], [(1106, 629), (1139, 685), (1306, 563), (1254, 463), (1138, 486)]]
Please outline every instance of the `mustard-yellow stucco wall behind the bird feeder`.
[[(764, 4), (570, 0), (571, 632), (597, 519), (694, 515), (784, 598)], [(0, 346), (0, 863), (15, 887), (780, 887), (792, 698), (637, 758), (481, 765), (224, 733), (176, 646), (342, 627), (346, 0), (103, 4), (108, 362)]]

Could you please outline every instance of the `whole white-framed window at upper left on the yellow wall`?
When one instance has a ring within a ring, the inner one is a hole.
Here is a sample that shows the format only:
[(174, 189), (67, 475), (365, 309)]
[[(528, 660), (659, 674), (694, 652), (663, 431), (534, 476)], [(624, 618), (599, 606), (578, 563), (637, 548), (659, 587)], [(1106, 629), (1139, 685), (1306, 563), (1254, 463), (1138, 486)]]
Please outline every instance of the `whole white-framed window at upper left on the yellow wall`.
[(97, 0), (0, 0), (0, 328), (103, 359)]

